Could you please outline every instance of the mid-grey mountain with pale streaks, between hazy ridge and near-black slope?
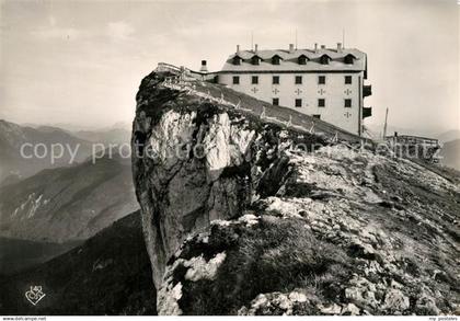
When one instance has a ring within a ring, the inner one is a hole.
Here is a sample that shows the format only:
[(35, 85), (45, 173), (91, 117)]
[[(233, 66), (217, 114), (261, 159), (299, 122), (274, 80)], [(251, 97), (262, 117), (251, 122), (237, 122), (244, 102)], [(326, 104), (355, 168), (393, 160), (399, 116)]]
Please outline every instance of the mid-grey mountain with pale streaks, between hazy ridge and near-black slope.
[(32, 241), (85, 240), (138, 208), (129, 164), (99, 159), (44, 170), (0, 188), (0, 236)]

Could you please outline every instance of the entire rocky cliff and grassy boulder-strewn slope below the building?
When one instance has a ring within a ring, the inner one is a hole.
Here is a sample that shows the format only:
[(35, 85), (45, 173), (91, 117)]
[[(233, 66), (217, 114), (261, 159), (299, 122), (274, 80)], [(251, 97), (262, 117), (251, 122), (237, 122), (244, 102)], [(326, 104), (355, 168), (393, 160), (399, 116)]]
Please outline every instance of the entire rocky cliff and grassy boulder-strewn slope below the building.
[(289, 110), (269, 107), (286, 126), (260, 117), (262, 102), (215, 84), (172, 89), (170, 76), (142, 80), (133, 129), (159, 313), (458, 309), (458, 181), (357, 150), (322, 122), (301, 130), (292, 119), (313, 119)]

